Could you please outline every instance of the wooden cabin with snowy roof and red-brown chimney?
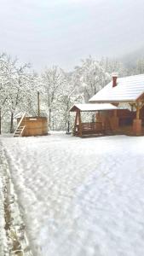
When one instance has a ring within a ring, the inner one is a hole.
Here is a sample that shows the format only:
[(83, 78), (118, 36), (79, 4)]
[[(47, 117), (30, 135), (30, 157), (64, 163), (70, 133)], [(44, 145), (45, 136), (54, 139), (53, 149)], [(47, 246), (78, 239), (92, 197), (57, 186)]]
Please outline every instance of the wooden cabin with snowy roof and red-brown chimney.
[(144, 135), (144, 74), (124, 78), (113, 74), (112, 81), (89, 102), (117, 106), (111, 113), (99, 113), (103, 122), (108, 120), (113, 134)]

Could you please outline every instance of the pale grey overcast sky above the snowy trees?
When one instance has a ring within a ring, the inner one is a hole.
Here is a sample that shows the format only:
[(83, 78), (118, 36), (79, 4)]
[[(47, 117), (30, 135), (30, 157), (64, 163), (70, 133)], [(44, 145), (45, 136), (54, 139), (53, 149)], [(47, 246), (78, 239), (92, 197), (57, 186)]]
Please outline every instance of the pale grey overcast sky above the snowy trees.
[(0, 0), (0, 51), (34, 69), (117, 57), (144, 45), (143, 0)]

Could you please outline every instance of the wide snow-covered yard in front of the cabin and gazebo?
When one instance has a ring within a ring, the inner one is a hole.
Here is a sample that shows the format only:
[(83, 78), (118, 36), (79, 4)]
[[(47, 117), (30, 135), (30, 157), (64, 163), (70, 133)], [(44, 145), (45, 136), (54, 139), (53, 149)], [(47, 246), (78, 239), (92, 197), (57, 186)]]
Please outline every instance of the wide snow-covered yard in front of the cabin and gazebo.
[(36, 256), (144, 255), (144, 137), (1, 137)]

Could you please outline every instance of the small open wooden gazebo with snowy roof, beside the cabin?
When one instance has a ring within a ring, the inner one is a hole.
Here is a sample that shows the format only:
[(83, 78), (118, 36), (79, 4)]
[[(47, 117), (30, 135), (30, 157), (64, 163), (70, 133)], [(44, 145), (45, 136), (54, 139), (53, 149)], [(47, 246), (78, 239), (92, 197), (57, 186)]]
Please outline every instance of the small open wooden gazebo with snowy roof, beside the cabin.
[[(106, 119), (104, 120), (100, 117), (100, 113), (111, 113), (113, 115), (115, 110), (117, 110), (117, 107), (110, 103), (75, 104), (70, 109), (70, 112), (76, 112), (73, 135), (78, 137), (89, 135), (101, 136), (106, 134), (106, 132), (110, 132), (110, 125), (106, 122)], [(95, 122), (83, 122), (81, 119), (82, 112), (94, 112)]]

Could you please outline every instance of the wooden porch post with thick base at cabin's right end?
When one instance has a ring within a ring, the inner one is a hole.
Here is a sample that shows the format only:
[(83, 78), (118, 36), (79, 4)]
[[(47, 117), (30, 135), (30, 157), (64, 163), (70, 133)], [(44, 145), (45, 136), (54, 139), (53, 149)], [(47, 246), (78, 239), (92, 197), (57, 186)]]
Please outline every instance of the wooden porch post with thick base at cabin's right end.
[(143, 103), (140, 102), (135, 103), (136, 108), (136, 119), (133, 120), (133, 133), (134, 135), (141, 135), (142, 125), (140, 119), (140, 109), (143, 107)]

